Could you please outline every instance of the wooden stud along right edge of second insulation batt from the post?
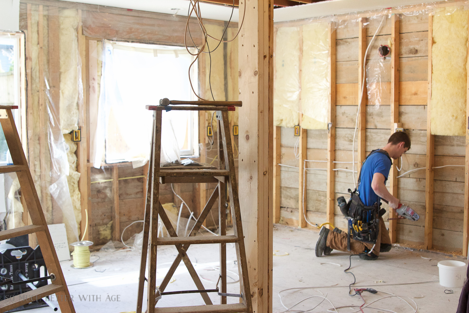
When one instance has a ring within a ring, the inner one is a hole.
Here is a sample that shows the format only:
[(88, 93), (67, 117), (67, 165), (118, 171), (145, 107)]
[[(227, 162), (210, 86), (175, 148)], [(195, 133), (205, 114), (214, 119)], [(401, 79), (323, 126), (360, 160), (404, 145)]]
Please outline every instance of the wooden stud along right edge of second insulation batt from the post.
[[(335, 207), (335, 23), (329, 24), (329, 89), (331, 99), (329, 100), (329, 110), (327, 114), (328, 131), (327, 131), (327, 200), (326, 200), (326, 221), (334, 223), (334, 207)], [(329, 226), (329, 225), (328, 225)], [(331, 228), (329, 226), (329, 228)]]

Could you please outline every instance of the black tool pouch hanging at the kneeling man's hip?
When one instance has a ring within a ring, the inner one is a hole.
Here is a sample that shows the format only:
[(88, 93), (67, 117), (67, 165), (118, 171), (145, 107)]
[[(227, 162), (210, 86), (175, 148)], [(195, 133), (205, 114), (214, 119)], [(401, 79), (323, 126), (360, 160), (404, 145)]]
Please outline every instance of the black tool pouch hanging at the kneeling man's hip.
[(373, 206), (365, 206), (353, 191), (348, 209), (349, 236), (355, 240), (376, 244), (379, 233), (379, 201)]

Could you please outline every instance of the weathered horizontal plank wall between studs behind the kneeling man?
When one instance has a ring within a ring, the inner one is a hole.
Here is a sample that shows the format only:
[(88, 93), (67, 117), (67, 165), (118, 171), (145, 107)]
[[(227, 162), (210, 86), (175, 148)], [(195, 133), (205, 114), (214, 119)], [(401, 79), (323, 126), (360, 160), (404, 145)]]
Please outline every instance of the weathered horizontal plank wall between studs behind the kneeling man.
[[(381, 17), (370, 18), (367, 25), (367, 43), (376, 31)], [(275, 27), (310, 23), (305, 21), (276, 23)], [(427, 73), (428, 73), (428, 15), (401, 15), (399, 47), (399, 122), (409, 134), (412, 145), (408, 153), (398, 161), (402, 165), (398, 175), (426, 167), (427, 142)], [(358, 23), (356, 18), (339, 21), (336, 29), (336, 136), (335, 160), (350, 162), (352, 159), (352, 137), (358, 103)], [(368, 59), (376, 59), (378, 47), (387, 45), (391, 38), (390, 19), (378, 33), (370, 47)], [(384, 62), (381, 76), (381, 105), (378, 109), (366, 106), (366, 153), (386, 145), (391, 131), (391, 62)], [(397, 80), (397, 77), (396, 77)], [(281, 130), (280, 163), (297, 166), (293, 150), (296, 137), (293, 129)], [(434, 167), (464, 165), (465, 138), (458, 136), (435, 136)], [(308, 130), (308, 159), (326, 160), (327, 133)], [(311, 167), (320, 167), (317, 166)], [(310, 167), (308, 165), (308, 167)], [(335, 163), (334, 168), (351, 169), (350, 163)], [(464, 212), (464, 168), (446, 167), (434, 169), (433, 227), (432, 241), (435, 249), (462, 250)], [(308, 171), (307, 174), (307, 217), (314, 223), (325, 222), (326, 171)], [(353, 187), (352, 174), (335, 172), (335, 198), (346, 195)], [(298, 169), (281, 167), (280, 177), (280, 222), (298, 225)], [(389, 188), (389, 180), (387, 183)], [(421, 219), (419, 221), (398, 220), (397, 242), (423, 246), (425, 224), (425, 170), (417, 170), (398, 178), (398, 198), (411, 206)], [(386, 207), (386, 206), (385, 206)], [(334, 225), (346, 229), (338, 206), (334, 205)], [(384, 216), (385, 221), (388, 214)], [(386, 222), (387, 226), (387, 222)]]

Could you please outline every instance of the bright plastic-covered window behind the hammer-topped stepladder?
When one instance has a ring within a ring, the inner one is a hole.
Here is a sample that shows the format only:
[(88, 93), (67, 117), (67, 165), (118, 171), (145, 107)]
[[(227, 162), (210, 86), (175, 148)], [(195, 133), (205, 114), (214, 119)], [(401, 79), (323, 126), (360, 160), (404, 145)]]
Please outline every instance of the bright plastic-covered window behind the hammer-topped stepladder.
[[(182, 47), (105, 41), (95, 167), (103, 155), (99, 146), (104, 146), (106, 163), (146, 163), (152, 111), (145, 106), (157, 105), (162, 98), (192, 100), (188, 69), (193, 60)], [(191, 69), (197, 84), (197, 63)], [(197, 112), (163, 112), (163, 118), (172, 123), (181, 155), (198, 154)], [(100, 132), (104, 143), (99, 142)]]

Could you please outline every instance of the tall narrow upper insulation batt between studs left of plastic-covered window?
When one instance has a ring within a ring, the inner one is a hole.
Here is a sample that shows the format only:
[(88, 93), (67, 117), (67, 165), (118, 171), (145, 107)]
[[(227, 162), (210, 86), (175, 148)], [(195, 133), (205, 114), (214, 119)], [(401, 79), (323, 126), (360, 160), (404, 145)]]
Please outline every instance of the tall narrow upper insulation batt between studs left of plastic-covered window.
[(64, 9), (59, 13), (60, 123), (62, 133), (78, 129), (78, 12)]

